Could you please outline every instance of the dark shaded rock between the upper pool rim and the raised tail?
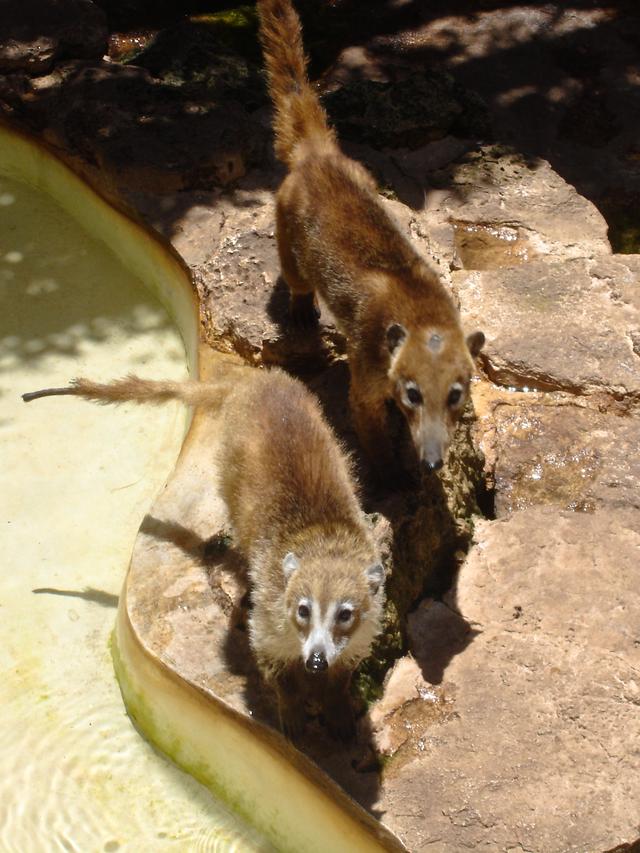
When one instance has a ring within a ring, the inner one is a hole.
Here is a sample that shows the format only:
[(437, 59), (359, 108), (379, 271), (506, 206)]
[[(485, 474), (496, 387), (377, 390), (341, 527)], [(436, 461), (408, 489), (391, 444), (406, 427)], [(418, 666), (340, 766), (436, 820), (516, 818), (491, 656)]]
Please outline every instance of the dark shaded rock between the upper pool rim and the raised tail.
[(122, 194), (226, 186), (264, 155), (266, 129), (238, 101), (186, 97), (133, 65), (74, 60), (10, 82), (10, 117)]

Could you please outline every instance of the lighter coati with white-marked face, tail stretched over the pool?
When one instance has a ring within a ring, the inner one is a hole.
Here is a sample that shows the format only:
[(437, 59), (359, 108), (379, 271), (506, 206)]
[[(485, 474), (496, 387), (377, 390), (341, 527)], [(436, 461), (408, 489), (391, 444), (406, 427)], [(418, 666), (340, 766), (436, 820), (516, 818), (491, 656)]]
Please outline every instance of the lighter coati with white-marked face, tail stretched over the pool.
[(384, 569), (349, 461), (312, 394), (280, 370), (233, 366), (207, 383), (76, 379), (23, 399), (59, 394), (223, 410), (221, 492), (249, 566), (251, 646), (276, 689), (281, 726), (299, 733), (310, 688), (329, 730), (353, 734), (348, 688), (380, 630)]

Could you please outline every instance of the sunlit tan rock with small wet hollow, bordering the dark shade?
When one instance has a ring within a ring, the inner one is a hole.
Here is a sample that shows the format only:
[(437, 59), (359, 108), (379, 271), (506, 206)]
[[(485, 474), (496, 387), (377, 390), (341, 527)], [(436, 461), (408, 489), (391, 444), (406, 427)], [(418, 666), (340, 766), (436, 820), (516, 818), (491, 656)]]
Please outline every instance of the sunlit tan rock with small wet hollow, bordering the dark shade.
[(491, 269), (542, 256), (611, 252), (602, 215), (546, 160), (485, 146), (434, 173), (429, 146), (395, 159), (427, 188), (417, 221), (454, 267)]

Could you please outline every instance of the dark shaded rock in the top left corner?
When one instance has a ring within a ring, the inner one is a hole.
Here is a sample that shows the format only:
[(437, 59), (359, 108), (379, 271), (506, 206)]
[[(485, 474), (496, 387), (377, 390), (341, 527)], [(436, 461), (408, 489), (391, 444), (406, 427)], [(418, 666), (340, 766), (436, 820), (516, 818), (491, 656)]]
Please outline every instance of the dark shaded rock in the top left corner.
[(56, 60), (101, 57), (107, 19), (91, 0), (0, 2), (0, 73), (44, 74)]

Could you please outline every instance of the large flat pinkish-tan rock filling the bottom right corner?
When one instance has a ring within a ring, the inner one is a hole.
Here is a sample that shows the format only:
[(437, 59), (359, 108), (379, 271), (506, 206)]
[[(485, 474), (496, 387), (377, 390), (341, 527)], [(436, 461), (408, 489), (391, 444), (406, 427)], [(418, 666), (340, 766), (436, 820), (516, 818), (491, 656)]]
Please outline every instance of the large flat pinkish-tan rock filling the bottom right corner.
[(412, 851), (597, 851), (640, 833), (639, 531), (636, 510), (482, 523), (448, 606), (413, 615), (438, 687), (411, 674), (425, 712), (377, 803)]

